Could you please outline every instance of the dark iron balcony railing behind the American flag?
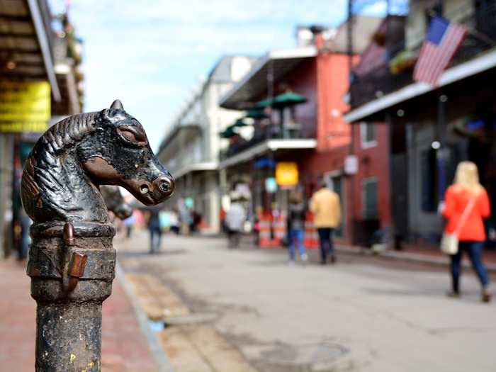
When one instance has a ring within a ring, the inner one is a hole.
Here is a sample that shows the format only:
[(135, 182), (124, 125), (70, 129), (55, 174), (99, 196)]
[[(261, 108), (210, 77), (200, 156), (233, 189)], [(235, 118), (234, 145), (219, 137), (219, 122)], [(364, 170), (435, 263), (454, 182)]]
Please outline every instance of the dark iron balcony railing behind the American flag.
[[(471, 4), (471, 2), (470, 5), (464, 4), (456, 11), (444, 14), (445, 18), (455, 20), (456, 23), (461, 23), (468, 29), (468, 34), (449, 67), (468, 62), (483, 52), (496, 47), (496, 5), (474, 7)], [(422, 35), (419, 40), (423, 40), (423, 38)], [(413, 64), (409, 69), (397, 74), (390, 71), (390, 62), (403, 51), (404, 44), (403, 41), (388, 48), (385, 53), (387, 55), (385, 61), (378, 65), (373, 72), (354, 76), (350, 87), (352, 110), (414, 83)], [(415, 50), (411, 50), (411, 54), (418, 55), (419, 48), (420, 45)]]

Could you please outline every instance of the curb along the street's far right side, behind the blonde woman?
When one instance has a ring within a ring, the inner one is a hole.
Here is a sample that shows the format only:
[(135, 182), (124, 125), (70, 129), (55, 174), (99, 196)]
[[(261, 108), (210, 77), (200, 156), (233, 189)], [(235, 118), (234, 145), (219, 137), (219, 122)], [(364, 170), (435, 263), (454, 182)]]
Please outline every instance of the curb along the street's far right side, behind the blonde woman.
[[(356, 255), (366, 255), (363, 249), (358, 247), (336, 247), (337, 252), (356, 254)], [(371, 257), (378, 257), (383, 259), (390, 259), (394, 261), (407, 261), (407, 262), (415, 262), (417, 264), (430, 264), (433, 266), (442, 266), (446, 269), (449, 268), (449, 258), (446, 256), (441, 257), (428, 257), (426, 254), (418, 254), (418, 253), (407, 253), (407, 252), (393, 252), (393, 251), (384, 251), (378, 252), (377, 254), (368, 254)], [(470, 262), (465, 259), (462, 262), (463, 268), (470, 268)], [(485, 268), (488, 272), (495, 274), (496, 273), (496, 264), (485, 264)]]

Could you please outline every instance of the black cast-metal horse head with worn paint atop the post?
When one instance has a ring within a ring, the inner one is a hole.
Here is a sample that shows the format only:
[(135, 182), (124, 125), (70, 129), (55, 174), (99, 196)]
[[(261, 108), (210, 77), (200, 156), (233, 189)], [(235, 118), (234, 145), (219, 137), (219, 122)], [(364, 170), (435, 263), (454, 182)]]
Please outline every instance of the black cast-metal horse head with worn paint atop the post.
[(123, 186), (145, 205), (162, 203), (174, 179), (142, 125), (116, 100), (111, 108), (53, 125), (31, 151), (21, 198), (34, 222), (108, 222), (99, 186)]

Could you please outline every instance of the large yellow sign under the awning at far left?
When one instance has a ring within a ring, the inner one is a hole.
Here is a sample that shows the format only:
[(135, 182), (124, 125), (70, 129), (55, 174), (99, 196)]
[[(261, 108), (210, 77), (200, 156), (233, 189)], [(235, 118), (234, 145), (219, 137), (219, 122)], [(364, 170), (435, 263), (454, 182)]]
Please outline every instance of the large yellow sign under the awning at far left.
[(0, 132), (43, 132), (50, 119), (50, 84), (0, 81)]

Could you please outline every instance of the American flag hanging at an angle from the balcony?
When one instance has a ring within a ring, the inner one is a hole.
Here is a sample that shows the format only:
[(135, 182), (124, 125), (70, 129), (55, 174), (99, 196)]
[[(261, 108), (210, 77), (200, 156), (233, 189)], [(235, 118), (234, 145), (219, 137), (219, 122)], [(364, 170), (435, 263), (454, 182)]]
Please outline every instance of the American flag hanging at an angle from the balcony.
[(415, 64), (413, 79), (435, 86), (466, 33), (466, 28), (461, 25), (449, 23), (441, 17), (432, 18)]

